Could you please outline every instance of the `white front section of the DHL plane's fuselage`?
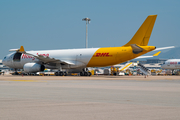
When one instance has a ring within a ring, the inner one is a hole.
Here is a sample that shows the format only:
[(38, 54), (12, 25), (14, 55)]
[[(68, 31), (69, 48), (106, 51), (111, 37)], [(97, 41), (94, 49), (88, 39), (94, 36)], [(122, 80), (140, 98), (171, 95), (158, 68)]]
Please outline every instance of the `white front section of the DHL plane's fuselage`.
[[(41, 51), (26, 51), (34, 56), (42, 55), (43, 57), (56, 58), (61, 61), (66, 61), (67, 63), (72, 63), (70, 65), (62, 65), (62, 69), (67, 68), (81, 68), (86, 67), (90, 61), (92, 55), (97, 51), (98, 48), (88, 48), (88, 49), (64, 49), (64, 50), (41, 50)], [(41, 63), (39, 59), (31, 55), (24, 53), (18, 53), (17, 59), (14, 58), (16, 52), (7, 55), (3, 59), (3, 64), (9, 66), (10, 68), (22, 69), (26, 63)], [(18, 58), (19, 57), (19, 58)], [(59, 63), (59, 62), (57, 62)], [(46, 64), (47, 68), (58, 69), (58, 65), (54, 62), (54, 65)]]

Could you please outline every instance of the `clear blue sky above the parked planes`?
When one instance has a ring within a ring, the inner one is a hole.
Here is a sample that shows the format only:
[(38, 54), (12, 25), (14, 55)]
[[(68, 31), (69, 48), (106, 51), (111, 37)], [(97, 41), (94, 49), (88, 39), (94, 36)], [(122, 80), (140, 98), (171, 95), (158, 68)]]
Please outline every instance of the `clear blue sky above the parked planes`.
[(126, 44), (148, 15), (157, 14), (149, 45), (180, 46), (179, 0), (1, 0), (0, 59), (9, 49), (71, 49)]

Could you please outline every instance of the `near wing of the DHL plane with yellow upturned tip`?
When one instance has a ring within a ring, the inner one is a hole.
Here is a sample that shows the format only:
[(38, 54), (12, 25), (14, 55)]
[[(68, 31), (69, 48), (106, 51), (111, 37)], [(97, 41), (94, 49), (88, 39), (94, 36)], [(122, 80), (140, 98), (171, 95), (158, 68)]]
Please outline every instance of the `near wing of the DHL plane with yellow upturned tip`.
[(21, 46), (20, 49), (16, 49), (15, 51), (23, 53), (23, 54), (26, 54), (26, 55), (33, 56), (33, 57), (39, 59), (41, 62), (43, 62), (45, 64), (46, 63), (62, 63), (62, 64), (74, 65), (74, 63), (69, 62), (69, 61), (64, 61), (64, 60), (59, 60), (59, 59), (55, 59), (55, 58), (50, 58), (48, 56), (45, 57), (45, 56), (42, 56), (42, 55), (33, 55), (33, 54), (30, 54), (30, 53), (27, 53), (24, 50), (23, 46)]

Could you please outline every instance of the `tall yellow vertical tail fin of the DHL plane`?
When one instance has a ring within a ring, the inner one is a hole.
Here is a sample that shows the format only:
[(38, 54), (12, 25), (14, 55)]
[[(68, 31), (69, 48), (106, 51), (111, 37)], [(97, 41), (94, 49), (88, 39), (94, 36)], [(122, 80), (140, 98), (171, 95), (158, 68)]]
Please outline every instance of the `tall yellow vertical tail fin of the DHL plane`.
[(147, 46), (151, 32), (153, 30), (154, 23), (157, 15), (149, 15), (141, 27), (138, 29), (133, 38), (124, 46), (130, 46), (131, 44), (137, 44), (140, 46)]

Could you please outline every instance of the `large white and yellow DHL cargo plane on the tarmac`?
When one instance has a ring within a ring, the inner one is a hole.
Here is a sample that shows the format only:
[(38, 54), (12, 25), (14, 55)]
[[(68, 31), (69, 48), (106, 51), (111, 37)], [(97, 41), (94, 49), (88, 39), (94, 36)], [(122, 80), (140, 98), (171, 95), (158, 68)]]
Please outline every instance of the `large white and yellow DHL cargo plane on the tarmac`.
[(55, 75), (66, 75), (67, 72), (80, 72), (90, 75), (87, 67), (104, 67), (126, 62), (156, 49), (148, 46), (157, 15), (149, 15), (132, 39), (122, 47), (16, 51), (4, 57), (3, 64), (14, 69), (24, 69), (27, 73), (58, 69)]

